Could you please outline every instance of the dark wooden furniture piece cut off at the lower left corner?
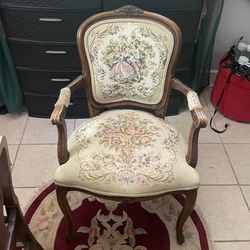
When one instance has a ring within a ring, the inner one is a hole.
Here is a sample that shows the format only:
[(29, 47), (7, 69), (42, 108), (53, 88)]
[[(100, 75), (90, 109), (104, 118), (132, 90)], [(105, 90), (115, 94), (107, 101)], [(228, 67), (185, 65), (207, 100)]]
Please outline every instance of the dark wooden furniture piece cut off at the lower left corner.
[[(17, 243), (22, 243), (24, 249), (42, 250), (22, 215), (12, 185), (10, 167), (7, 141), (0, 136), (0, 249), (14, 250)], [(6, 218), (3, 206), (7, 212)]]

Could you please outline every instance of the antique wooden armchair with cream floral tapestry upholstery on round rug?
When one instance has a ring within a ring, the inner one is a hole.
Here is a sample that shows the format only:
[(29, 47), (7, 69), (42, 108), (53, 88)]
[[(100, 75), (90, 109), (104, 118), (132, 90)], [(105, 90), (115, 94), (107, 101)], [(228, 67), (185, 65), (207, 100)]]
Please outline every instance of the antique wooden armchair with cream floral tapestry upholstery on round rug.
[[(116, 202), (182, 193), (186, 201), (176, 226), (182, 244), (182, 228), (199, 187), (194, 169), (198, 135), (207, 119), (197, 94), (174, 78), (179, 27), (166, 17), (124, 6), (88, 18), (78, 30), (77, 44), (83, 74), (61, 90), (51, 115), (58, 129), (61, 165), (54, 182), (68, 221), (67, 239), (74, 231), (68, 191)], [(81, 87), (92, 118), (67, 142), (66, 110), (71, 92)], [(187, 97), (193, 118), (188, 145), (164, 120), (172, 88)]]

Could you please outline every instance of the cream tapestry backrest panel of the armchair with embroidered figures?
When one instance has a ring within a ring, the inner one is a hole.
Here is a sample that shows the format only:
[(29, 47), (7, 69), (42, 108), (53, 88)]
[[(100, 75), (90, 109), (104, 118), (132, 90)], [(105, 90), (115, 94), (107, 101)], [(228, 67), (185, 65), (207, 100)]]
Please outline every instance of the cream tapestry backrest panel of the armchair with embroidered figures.
[(167, 27), (144, 19), (105, 20), (88, 28), (84, 47), (97, 102), (161, 101), (174, 47)]

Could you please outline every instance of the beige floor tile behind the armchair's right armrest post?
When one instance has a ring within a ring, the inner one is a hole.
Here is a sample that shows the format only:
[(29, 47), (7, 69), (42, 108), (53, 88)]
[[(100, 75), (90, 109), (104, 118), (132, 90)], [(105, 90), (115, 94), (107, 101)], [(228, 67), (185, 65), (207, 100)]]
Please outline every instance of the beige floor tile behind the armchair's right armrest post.
[[(210, 119), (210, 113), (204, 111), (208, 120)], [(181, 112), (179, 115), (168, 116), (167, 120), (170, 124), (178, 129), (178, 131), (184, 136), (186, 142), (188, 142), (189, 132), (192, 125), (192, 117), (188, 110)], [(220, 143), (219, 136), (213, 132), (209, 126), (200, 130), (199, 143)]]

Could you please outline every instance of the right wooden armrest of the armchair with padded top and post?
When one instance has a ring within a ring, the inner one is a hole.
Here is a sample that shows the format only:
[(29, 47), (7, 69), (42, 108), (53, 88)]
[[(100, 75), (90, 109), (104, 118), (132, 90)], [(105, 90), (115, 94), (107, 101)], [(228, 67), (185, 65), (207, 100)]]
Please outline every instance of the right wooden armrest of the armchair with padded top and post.
[(201, 128), (205, 128), (207, 126), (207, 117), (200, 104), (199, 97), (196, 92), (176, 78), (174, 78), (172, 81), (172, 87), (184, 94), (188, 101), (188, 107), (192, 115), (193, 123), (189, 133), (186, 160), (190, 166), (196, 167), (198, 160), (199, 132)]

